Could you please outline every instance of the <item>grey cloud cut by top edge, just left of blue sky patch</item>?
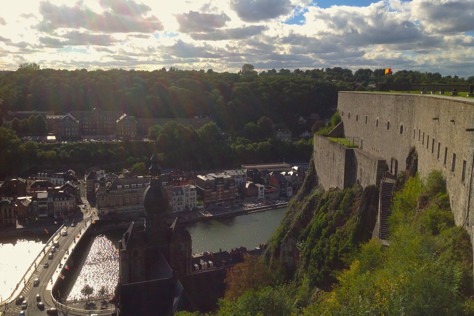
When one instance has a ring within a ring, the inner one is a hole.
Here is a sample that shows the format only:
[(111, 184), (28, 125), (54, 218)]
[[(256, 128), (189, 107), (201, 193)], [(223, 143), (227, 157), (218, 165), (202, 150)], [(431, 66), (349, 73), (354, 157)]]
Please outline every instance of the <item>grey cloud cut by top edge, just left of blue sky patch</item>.
[(290, 0), (231, 0), (230, 9), (246, 22), (265, 21), (289, 14), (294, 7)]

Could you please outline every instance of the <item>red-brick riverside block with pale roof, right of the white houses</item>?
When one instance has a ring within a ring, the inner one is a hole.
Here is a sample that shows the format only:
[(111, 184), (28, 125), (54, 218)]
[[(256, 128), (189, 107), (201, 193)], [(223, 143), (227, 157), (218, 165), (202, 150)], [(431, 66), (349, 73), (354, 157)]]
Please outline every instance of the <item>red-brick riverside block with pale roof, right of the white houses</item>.
[(197, 194), (201, 196), (204, 208), (219, 208), (234, 203), (236, 187), (234, 177), (222, 173), (196, 176)]

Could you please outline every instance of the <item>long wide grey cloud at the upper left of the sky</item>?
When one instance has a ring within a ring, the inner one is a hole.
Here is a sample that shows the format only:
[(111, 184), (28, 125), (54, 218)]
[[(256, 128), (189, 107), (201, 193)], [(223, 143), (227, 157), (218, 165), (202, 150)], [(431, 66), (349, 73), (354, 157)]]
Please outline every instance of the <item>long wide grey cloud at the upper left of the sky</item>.
[(155, 16), (119, 15), (110, 12), (98, 14), (81, 2), (74, 7), (56, 6), (49, 1), (42, 1), (39, 12), (43, 16), (35, 28), (39, 31), (52, 33), (60, 27), (85, 28), (104, 33), (153, 33), (163, 30), (163, 24)]

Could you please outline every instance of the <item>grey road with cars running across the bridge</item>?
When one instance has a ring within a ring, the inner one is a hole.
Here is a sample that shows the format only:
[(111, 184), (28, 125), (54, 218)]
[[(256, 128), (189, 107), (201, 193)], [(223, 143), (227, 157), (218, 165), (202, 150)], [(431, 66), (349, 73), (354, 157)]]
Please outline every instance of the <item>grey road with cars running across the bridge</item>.
[[(30, 280), (26, 282), (25, 289), (21, 292), (22, 295), (27, 299), (28, 306), (25, 310), (26, 316), (40, 316), (46, 315), (46, 309), (49, 307), (55, 307), (55, 303), (51, 298), (51, 289), (52, 289), (52, 278), (55, 272), (60, 272), (61, 269), (58, 268), (58, 265), (61, 263), (64, 265), (64, 262), (67, 260), (69, 255), (67, 254), (68, 249), (74, 246), (74, 239), (77, 235), (80, 235), (81, 231), (83, 232), (84, 225), (87, 223), (89, 225), (89, 218), (84, 214), (85, 219), (82, 218), (82, 214), (70, 220), (68, 223), (71, 225), (75, 224), (75, 227), (65, 227), (63, 229), (67, 231), (67, 236), (60, 235), (57, 239), (59, 241), (59, 248), (54, 253), (54, 257), (51, 260), (48, 260), (47, 252), (43, 261), (36, 267)], [(51, 244), (47, 245), (47, 250), (49, 250)], [(64, 260), (66, 258), (66, 260)], [(49, 267), (44, 268), (44, 263), (48, 262)], [(57, 277), (57, 274), (54, 276)], [(39, 285), (37, 287), (33, 286), (33, 281), (39, 279)], [(36, 294), (41, 295), (41, 301), (45, 304), (45, 308), (40, 310), (36, 307)], [(56, 295), (58, 293), (55, 293)], [(21, 303), (20, 303), (21, 304)], [(3, 307), (2, 307), (3, 309)], [(21, 305), (15, 305), (15, 302), (9, 304), (8, 309), (5, 311), (6, 316), (17, 316), (20, 313)], [(87, 315), (87, 314), (86, 314)]]

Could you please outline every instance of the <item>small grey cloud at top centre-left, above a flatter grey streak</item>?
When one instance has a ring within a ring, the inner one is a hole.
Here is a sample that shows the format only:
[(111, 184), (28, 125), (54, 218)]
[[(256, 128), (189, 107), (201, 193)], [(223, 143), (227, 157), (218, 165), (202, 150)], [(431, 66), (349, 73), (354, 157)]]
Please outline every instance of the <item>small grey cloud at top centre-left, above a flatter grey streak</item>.
[(230, 18), (227, 14), (211, 14), (189, 11), (189, 13), (176, 14), (179, 24), (178, 31), (182, 33), (209, 32), (216, 28), (224, 27)]

